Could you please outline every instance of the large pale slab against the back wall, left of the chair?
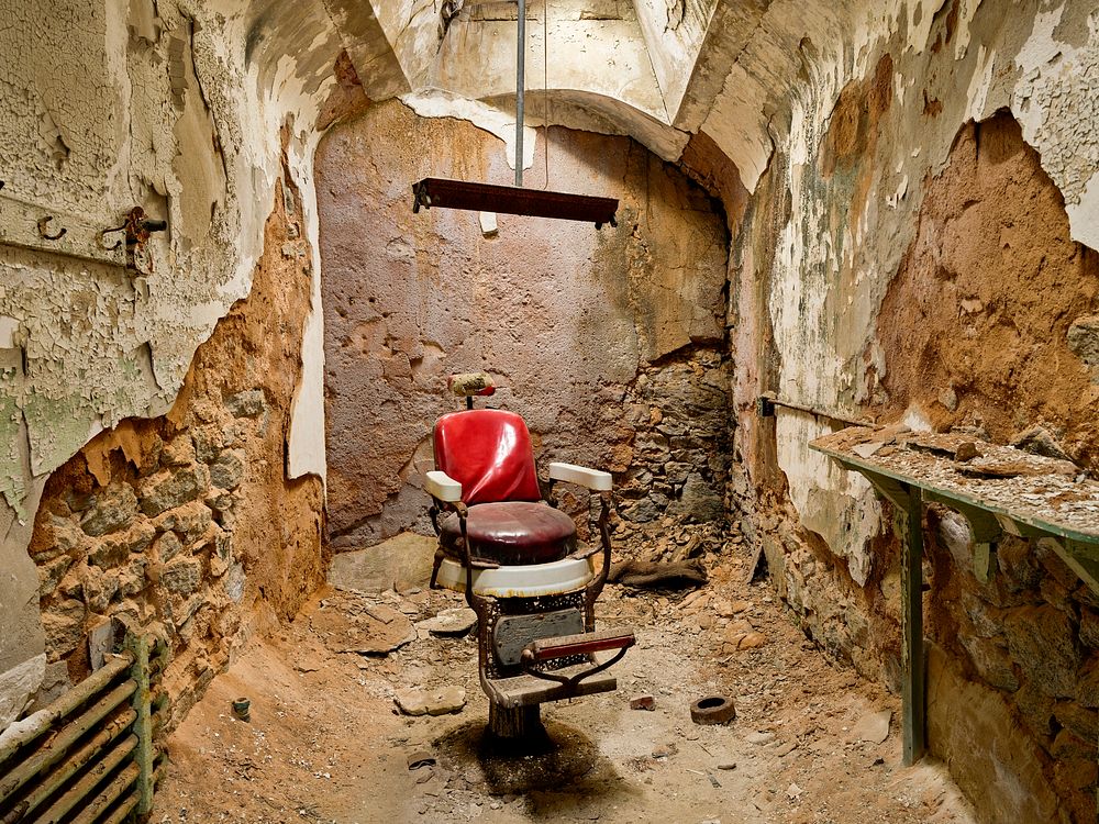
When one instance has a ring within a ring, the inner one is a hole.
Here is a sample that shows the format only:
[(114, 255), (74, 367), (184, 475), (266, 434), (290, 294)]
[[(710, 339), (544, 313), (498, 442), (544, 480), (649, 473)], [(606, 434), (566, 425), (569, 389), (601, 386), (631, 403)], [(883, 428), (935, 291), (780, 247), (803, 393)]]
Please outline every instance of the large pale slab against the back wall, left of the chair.
[(329, 567), (329, 583), (354, 592), (424, 588), (431, 579), (435, 538), (404, 532), (377, 546), (338, 553)]

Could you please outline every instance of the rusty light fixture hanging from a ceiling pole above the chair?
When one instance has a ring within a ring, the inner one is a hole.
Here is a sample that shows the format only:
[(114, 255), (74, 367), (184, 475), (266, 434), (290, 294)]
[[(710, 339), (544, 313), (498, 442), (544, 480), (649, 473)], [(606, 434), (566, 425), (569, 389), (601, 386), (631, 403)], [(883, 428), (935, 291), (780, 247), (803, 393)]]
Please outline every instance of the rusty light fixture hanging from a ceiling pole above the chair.
[[(547, 0), (548, 4), (548, 0)], [(547, 9), (548, 11), (548, 9)], [(467, 180), (426, 177), (412, 185), (412, 211), (423, 209), (469, 209), (477, 212), (522, 214), (617, 226), (617, 198), (523, 188), (523, 121), (526, 69), (526, 0), (519, 0), (519, 47), (515, 57), (515, 185), (496, 186)], [(548, 94), (548, 90), (546, 91)], [(550, 123), (546, 121), (546, 140)], [(547, 146), (548, 151), (548, 146)], [(548, 172), (548, 166), (547, 166)]]

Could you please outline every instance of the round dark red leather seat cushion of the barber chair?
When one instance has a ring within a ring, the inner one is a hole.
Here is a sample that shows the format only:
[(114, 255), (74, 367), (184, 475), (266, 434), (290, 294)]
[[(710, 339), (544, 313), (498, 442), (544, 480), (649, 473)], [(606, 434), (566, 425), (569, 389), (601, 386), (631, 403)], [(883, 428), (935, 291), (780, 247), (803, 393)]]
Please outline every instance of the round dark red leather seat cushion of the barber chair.
[[(458, 516), (440, 519), (440, 543), (460, 557)], [(469, 508), (466, 519), (469, 552), (497, 564), (547, 564), (576, 549), (576, 525), (560, 510), (545, 503), (506, 501)]]

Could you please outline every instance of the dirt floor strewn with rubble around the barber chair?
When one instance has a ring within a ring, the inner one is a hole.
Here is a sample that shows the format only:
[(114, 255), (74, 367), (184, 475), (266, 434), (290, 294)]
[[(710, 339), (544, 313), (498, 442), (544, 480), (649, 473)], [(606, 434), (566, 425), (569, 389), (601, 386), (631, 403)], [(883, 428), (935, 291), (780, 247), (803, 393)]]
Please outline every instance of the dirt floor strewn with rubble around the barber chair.
[[(170, 737), (152, 821), (975, 821), (941, 765), (901, 767), (898, 699), (830, 664), (766, 584), (744, 583), (746, 555), (708, 566), (697, 593), (607, 588), (600, 626), (632, 626), (639, 644), (615, 667), (617, 692), (544, 706), (555, 746), (541, 755), (486, 751), (474, 637), (414, 625), (460, 606), (457, 595), (325, 589), (217, 678)], [(386, 655), (355, 652), (406, 637)], [(456, 714), (396, 708), (398, 690), (448, 684), (465, 689)], [(736, 719), (693, 724), (690, 703), (713, 693), (734, 699)], [(642, 694), (654, 711), (630, 708)], [(238, 697), (248, 722), (233, 715)], [(864, 741), (884, 711), (888, 737)]]

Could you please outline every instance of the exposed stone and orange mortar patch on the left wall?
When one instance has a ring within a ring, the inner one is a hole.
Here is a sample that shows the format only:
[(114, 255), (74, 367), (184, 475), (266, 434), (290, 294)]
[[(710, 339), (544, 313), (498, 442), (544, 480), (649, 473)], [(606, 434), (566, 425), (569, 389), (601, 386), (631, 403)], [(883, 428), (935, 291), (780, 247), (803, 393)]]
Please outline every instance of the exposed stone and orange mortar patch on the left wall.
[(47, 481), (30, 545), (49, 661), (40, 704), (125, 624), (159, 624), (178, 720), (256, 626), (292, 616), (323, 580), (321, 482), (285, 471), (311, 288), (301, 221), (280, 185), (252, 293), (168, 414), (122, 422)]

